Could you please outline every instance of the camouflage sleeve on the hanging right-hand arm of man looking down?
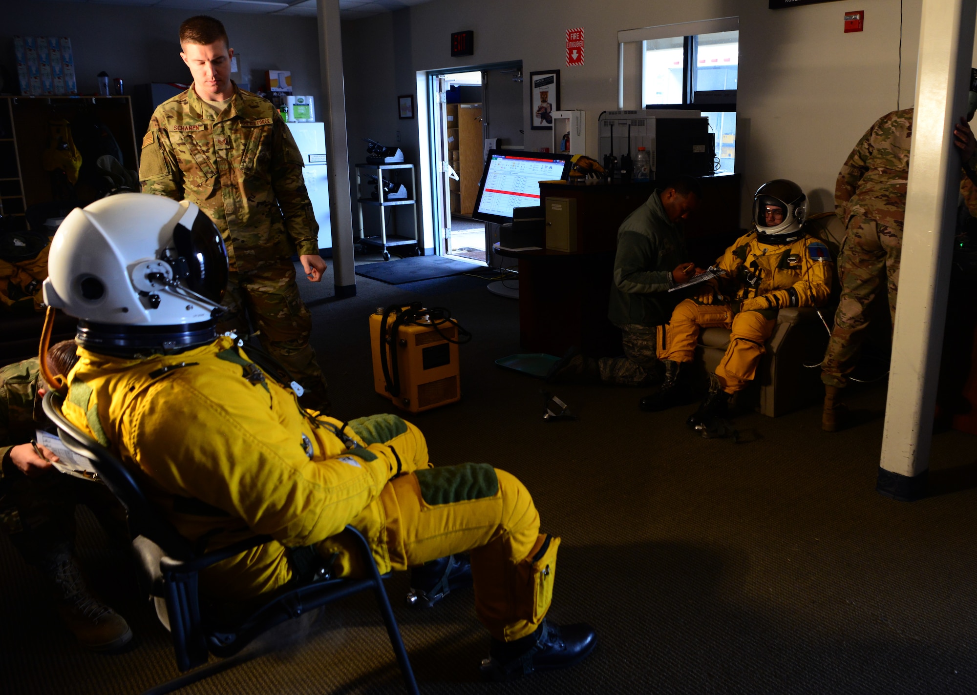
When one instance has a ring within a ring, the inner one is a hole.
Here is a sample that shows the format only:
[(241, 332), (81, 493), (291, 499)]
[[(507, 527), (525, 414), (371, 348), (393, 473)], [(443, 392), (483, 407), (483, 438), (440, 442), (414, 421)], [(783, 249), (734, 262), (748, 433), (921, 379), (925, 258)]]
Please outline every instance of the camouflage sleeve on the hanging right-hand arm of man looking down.
[(302, 176), (302, 153), (288, 126), (274, 119), (272, 137), (272, 187), (278, 207), (285, 218), (285, 228), (292, 237), (299, 256), (319, 255), (319, 223), (309, 200)]

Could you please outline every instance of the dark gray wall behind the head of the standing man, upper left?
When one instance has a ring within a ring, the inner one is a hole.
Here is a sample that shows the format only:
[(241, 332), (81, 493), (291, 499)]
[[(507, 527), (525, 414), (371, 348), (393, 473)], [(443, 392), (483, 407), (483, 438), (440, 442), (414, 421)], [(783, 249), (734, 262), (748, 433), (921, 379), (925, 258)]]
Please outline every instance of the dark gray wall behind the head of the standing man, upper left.
[[(130, 94), (134, 85), (147, 82), (189, 83), (178, 31), (180, 22), (194, 14), (210, 14), (224, 22), (231, 47), (241, 57), (240, 69), (251, 74), (252, 89), (263, 85), (265, 70), (290, 70), (295, 94), (320, 101), (315, 18), (33, 0), (0, 0), (0, 65), (14, 80), (7, 90), (16, 94), (19, 89), (15, 35), (69, 37), (82, 94), (98, 91), (96, 75), (102, 70), (121, 77)], [(136, 124), (137, 135), (143, 129)]]

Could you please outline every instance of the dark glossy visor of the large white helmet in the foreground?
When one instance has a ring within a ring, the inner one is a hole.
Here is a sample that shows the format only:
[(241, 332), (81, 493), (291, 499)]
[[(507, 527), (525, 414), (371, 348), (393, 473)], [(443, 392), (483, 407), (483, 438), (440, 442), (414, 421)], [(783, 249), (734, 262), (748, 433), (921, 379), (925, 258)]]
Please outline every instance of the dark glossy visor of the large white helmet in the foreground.
[(228, 250), (217, 225), (201, 210), (188, 229), (176, 225), (176, 275), (193, 292), (220, 304), (228, 286)]

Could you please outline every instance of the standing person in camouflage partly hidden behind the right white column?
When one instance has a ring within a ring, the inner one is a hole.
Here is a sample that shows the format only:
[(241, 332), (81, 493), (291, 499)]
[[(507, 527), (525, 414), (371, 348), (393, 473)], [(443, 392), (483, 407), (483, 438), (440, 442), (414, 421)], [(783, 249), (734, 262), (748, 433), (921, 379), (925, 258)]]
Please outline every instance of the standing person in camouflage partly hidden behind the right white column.
[[(971, 112), (968, 119), (973, 117)], [(838, 257), (841, 297), (822, 363), (825, 408), (822, 429), (838, 429), (840, 389), (848, 384), (870, 323), (869, 307), (884, 293), (893, 323), (899, 289), (903, 221), (913, 135), (913, 109), (892, 111), (872, 124), (841, 167), (834, 187), (835, 211), (847, 233)], [(964, 161), (973, 158), (973, 135), (962, 122), (955, 131)], [(977, 187), (961, 173), (960, 193), (977, 212)]]

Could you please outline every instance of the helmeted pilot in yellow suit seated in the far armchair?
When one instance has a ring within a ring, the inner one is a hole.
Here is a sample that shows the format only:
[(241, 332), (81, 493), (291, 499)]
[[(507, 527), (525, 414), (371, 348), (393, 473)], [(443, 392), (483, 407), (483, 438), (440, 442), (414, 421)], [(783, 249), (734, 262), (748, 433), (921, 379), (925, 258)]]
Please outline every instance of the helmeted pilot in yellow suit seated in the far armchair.
[(657, 393), (642, 399), (643, 410), (664, 410), (687, 397), (689, 363), (701, 328), (723, 326), (732, 330), (730, 345), (715, 374), (709, 375), (709, 392), (699, 410), (687, 421), (692, 428), (708, 427), (726, 413), (729, 396), (753, 379), (778, 310), (818, 307), (828, 300), (834, 268), (828, 247), (807, 235), (806, 212), (807, 196), (793, 182), (777, 179), (757, 189), (753, 230), (716, 262), (726, 274), (675, 307), (658, 332), (665, 381)]

